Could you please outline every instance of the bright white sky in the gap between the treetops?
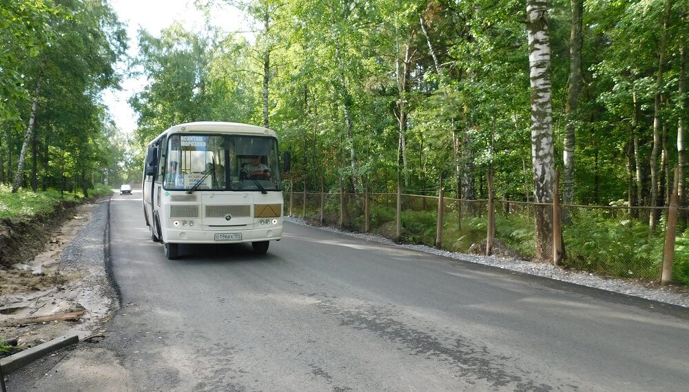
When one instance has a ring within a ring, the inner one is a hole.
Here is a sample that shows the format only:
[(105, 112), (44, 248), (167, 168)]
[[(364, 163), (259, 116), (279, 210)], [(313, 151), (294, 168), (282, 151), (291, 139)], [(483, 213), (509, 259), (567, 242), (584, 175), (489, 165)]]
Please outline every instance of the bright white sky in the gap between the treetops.
[[(136, 56), (138, 51), (136, 32), (139, 28), (144, 28), (151, 34), (159, 36), (161, 30), (174, 21), (185, 23), (187, 30), (192, 31), (200, 30), (200, 26), (204, 23), (203, 13), (194, 8), (193, 0), (110, 0), (110, 4), (119, 15), (120, 21), (127, 24), (127, 37), (130, 40), (127, 54), (130, 56)], [(229, 6), (215, 8), (211, 19), (214, 25), (242, 28), (247, 24), (240, 11)], [(123, 72), (126, 65), (121, 63), (117, 68)], [(110, 115), (116, 126), (123, 132), (130, 133), (136, 129), (137, 116), (127, 103), (127, 99), (141, 91), (145, 83), (145, 78), (125, 78), (121, 83), (121, 91), (111, 89), (103, 94), (103, 101), (110, 108)]]

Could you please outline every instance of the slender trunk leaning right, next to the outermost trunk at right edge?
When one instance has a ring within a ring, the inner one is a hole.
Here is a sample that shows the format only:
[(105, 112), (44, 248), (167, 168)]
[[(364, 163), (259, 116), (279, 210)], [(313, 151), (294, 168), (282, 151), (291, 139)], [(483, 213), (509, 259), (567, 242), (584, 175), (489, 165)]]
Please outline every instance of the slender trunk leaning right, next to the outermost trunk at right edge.
[[(663, 87), (663, 71), (665, 65), (665, 52), (668, 45), (668, 27), (670, 25), (670, 3), (666, 2), (665, 22), (663, 23), (663, 36), (660, 41), (660, 52), (658, 55), (658, 76), (655, 84), (655, 96), (653, 102), (653, 149), (650, 153), (650, 206), (657, 206), (659, 202), (660, 183), (658, 173), (658, 155), (661, 152), (661, 89)], [(653, 230), (657, 224), (659, 215), (651, 211), (648, 219), (648, 226)]]

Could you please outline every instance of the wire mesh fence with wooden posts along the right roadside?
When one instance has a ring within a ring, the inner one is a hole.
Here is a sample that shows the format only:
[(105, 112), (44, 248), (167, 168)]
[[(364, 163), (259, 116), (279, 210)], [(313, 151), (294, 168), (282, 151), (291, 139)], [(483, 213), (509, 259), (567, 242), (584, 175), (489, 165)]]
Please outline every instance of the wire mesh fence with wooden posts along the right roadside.
[[(464, 200), (395, 193), (285, 193), (285, 214), (316, 226), (338, 226), (371, 232), (394, 241), (438, 246), (452, 252), (490, 254), (535, 261), (553, 254), (553, 243), (537, 241), (535, 215), (553, 211), (552, 204), (495, 200)], [(689, 213), (679, 208), (680, 214)], [(398, 212), (399, 211), (399, 212)], [(440, 225), (438, 215), (440, 214)], [(398, 224), (399, 214), (399, 224)], [(658, 216), (655, 228), (650, 214)], [(489, 235), (493, 216), (494, 237)], [(663, 268), (668, 208), (575, 206), (560, 209), (562, 267), (600, 276), (659, 281)], [(675, 226), (672, 281), (689, 285), (689, 230)], [(440, 234), (440, 235), (439, 235)], [(553, 232), (555, 237), (555, 232)]]

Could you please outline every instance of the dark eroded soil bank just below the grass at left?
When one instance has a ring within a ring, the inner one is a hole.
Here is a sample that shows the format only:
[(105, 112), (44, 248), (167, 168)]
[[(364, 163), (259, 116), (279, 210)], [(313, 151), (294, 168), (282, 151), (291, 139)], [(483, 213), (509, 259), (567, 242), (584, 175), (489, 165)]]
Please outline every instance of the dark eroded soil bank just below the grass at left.
[(50, 215), (30, 219), (1, 219), (0, 268), (25, 263), (41, 253), (50, 245), (53, 233), (74, 216), (78, 205), (76, 202), (61, 202)]

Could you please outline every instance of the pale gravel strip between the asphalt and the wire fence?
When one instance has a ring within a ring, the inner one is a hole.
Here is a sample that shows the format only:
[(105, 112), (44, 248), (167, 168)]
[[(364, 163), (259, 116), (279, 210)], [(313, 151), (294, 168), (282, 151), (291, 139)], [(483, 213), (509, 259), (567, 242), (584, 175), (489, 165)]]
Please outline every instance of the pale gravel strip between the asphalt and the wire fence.
[[(311, 226), (307, 224), (303, 219), (295, 217), (285, 217), (285, 221), (291, 222), (293, 224), (300, 224), (305, 226)], [(318, 227), (318, 226), (314, 226)], [(483, 265), (490, 265), (491, 267), (502, 268), (504, 270), (510, 270), (514, 272), (520, 272), (522, 274), (530, 274), (535, 276), (543, 276), (548, 279), (555, 279), (557, 281), (563, 281), (568, 283), (574, 283), (577, 285), (582, 285), (586, 287), (595, 287), (600, 290), (606, 290), (609, 292), (616, 292), (619, 294), (626, 294), (628, 296), (635, 296), (639, 298), (645, 298), (651, 301), (658, 301), (661, 303), (668, 303), (672, 305), (679, 305), (682, 307), (689, 307), (689, 287), (684, 286), (660, 286), (657, 283), (648, 283), (640, 281), (624, 281), (621, 279), (608, 279), (601, 276), (596, 276), (594, 274), (589, 274), (586, 272), (579, 272), (573, 270), (563, 270), (562, 268), (556, 267), (555, 265), (545, 264), (545, 263), (535, 263), (532, 261), (523, 261), (518, 259), (508, 259), (504, 257), (495, 256), (480, 256), (476, 254), (465, 254), (449, 252), (447, 250), (438, 250), (431, 246), (424, 245), (410, 245), (410, 244), (398, 244), (394, 243), (390, 239), (381, 237), (379, 235), (362, 234), (356, 232), (348, 232), (340, 230), (338, 228), (333, 228), (329, 226), (318, 227), (321, 230), (327, 230), (331, 232), (338, 232), (343, 235), (349, 235), (351, 237), (356, 237), (359, 239), (365, 239), (368, 241), (385, 243), (387, 245), (399, 246), (400, 248), (406, 248), (411, 250), (418, 250), (420, 252), (426, 252), (430, 254), (435, 254), (438, 256), (449, 257), (450, 259), (466, 261), (469, 263), (477, 263)]]

